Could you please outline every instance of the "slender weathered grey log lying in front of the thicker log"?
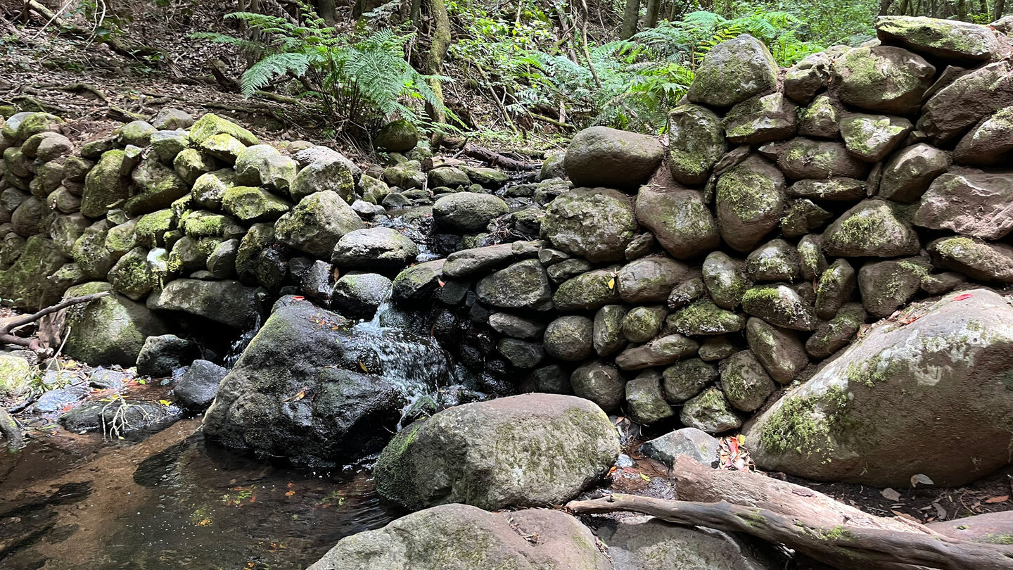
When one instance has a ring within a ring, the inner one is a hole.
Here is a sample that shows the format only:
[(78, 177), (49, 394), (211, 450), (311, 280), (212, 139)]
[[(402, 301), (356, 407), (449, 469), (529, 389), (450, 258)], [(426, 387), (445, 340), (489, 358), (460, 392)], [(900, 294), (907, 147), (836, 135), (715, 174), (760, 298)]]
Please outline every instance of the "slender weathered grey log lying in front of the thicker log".
[(1011, 570), (1013, 547), (972, 543), (937, 535), (887, 530), (821, 521), (727, 502), (700, 503), (611, 495), (572, 501), (576, 514), (629, 511), (693, 526), (743, 532), (780, 543), (841, 570), (856, 568), (937, 568)]

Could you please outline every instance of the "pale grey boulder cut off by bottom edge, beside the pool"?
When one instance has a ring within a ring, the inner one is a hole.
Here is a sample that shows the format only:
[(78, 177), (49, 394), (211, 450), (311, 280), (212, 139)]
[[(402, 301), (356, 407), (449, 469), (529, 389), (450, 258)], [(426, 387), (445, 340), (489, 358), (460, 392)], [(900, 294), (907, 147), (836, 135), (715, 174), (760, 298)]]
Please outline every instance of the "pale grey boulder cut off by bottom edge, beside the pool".
[(562, 511), (489, 513), (455, 504), (346, 537), (309, 570), (395, 568), (612, 570), (613, 566), (595, 546), (591, 530)]

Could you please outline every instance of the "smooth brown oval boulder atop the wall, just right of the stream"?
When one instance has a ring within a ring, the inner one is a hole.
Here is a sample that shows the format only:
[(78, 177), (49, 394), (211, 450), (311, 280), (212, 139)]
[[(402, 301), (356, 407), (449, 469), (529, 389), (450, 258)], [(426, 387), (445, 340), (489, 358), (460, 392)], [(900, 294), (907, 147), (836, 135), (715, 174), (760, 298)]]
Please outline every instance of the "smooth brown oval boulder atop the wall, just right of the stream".
[(628, 191), (646, 183), (664, 155), (654, 137), (591, 127), (570, 140), (563, 164), (573, 186)]

